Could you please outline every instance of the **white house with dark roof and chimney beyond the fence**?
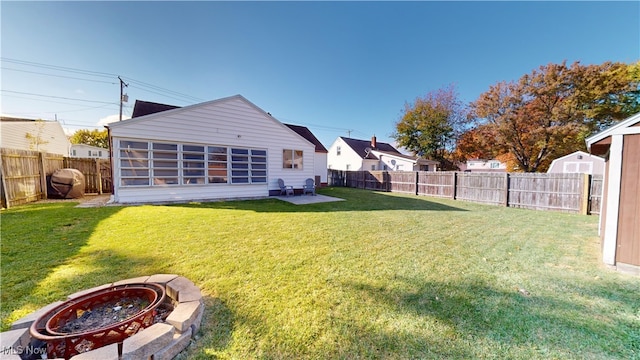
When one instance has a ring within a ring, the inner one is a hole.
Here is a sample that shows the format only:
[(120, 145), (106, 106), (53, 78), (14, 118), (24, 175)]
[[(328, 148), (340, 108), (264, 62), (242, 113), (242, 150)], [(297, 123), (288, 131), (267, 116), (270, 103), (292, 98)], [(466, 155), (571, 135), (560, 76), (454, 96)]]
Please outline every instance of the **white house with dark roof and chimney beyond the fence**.
[(436, 171), (438, 162), (405, 155), (390, 144), (338, 137), (329, 147), (328, 168), (332, 170)]

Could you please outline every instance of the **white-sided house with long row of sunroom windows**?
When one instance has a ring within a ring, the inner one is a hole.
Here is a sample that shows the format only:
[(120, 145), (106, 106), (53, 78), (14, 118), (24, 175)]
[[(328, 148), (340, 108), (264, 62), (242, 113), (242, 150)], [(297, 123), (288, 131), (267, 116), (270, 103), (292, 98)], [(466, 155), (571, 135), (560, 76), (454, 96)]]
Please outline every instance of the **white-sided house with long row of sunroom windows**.
[(148, 104), (108, 125), (116, 203), (259, 198), (314, 177), (316, 146), (241, 95)]

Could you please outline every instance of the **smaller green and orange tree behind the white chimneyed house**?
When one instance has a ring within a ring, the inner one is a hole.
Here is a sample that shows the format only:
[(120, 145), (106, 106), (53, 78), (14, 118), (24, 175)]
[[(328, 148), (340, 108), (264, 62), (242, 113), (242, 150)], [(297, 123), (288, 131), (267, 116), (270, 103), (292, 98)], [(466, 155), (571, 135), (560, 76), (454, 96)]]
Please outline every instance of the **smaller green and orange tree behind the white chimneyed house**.
[(453, 86), (430, 92), (405, 104), (392, 137), (416, 155), (444, 162), (455, 145), (465, 111)]

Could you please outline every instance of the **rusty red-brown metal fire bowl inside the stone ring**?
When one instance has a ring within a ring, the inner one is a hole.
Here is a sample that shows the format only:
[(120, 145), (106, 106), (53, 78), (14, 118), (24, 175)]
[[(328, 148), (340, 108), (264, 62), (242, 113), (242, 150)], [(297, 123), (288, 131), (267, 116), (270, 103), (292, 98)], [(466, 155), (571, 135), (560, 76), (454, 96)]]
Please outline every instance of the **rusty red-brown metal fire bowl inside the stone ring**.
[[(50, 358), (69, 359), (79, 353), (122, 343), (156, 322), (165, 289), (154, 283), (133, 283), (89, 292), (44, 313), (30, 328), (47, 343)], [(168, 312), (163, 312), (168, 315)]]

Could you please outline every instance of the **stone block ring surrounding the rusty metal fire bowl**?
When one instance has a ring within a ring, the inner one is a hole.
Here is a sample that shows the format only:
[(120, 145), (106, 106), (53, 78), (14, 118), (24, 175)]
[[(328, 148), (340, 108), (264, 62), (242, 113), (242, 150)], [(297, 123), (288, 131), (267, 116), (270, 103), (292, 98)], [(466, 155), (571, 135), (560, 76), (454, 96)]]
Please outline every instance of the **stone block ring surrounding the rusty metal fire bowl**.
[[(136, 286), (137, 285), (137, 286)], [(87, 352), (72, 355), (70, 359), (149, 359), (170, 360), (184, 350), (191, 339), (200, 329), (204, 314), (204, 303), (200, 289), (189, 279), (176, 274), (155, 274), (142, 276), (114, 283), (104, 284), (91, 289), (82, 290), (67, 297), (67, 302), (58, 301), (49, 304), (38, 311), (17, 320), (12, 324), (11, 330), (2, 333), (3, 360), (40, 358), (42, 349), (34, 347), (36, 337), (30, 334), (30, 327), (43, 327), (42, 319), (50, 319), (53, 314), (65, 307), (65, 304), (73, 300), (81, 300), (92, 293), (100, 293), (102, 290), (127, 287), (158, 287), (160, 292), (166, 294), (164, 301), (156, 303), (168, 305), (173, 310), (162, 322), (155, 323), (137, 333), (125, 338), (120, 343), (113, 343), (98, 347)], [(160, 296), (164, 296), (164, 294)], [(162, 305), (161, 304), (161, 305)], [(8, 349), (8, 350), (7, 350)], [(10, 350), (10, 351), (9, 351)], [(6, 356), (6, 357), (5, 357)]]

